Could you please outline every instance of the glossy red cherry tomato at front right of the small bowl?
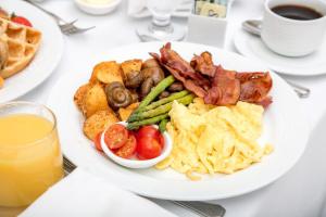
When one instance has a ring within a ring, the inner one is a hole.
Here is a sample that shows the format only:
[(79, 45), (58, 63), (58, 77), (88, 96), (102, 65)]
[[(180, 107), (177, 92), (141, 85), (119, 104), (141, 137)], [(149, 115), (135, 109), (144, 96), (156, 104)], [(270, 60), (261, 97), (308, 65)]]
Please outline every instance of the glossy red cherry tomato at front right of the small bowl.
[(137, 144), (137, 154), (140, 159), (151, 159), (159, 156), (162, 152), (161, 144), (158, 140), (143, 137), (139, 139)]

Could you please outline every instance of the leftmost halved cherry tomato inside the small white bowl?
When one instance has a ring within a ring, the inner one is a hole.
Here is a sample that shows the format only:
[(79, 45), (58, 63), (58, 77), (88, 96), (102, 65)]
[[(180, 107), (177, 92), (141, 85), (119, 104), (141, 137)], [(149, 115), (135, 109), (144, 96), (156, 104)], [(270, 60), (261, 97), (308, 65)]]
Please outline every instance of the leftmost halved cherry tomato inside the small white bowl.
[(123, 146), (128, 139), (128, 130), (120, 124), (112, 125), (104, 133), (104, 141), (109, 149)]

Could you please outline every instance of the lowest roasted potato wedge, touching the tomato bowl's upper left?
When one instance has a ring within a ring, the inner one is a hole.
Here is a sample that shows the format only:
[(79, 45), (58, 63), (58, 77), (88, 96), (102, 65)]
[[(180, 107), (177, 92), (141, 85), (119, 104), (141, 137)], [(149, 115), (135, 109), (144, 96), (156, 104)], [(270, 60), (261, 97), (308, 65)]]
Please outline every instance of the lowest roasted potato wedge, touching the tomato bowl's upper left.
[(85, 120), (83, 131), (88, 139), (93, 140), (99, 132), (117, 122), (112, 111), (98, 111)]

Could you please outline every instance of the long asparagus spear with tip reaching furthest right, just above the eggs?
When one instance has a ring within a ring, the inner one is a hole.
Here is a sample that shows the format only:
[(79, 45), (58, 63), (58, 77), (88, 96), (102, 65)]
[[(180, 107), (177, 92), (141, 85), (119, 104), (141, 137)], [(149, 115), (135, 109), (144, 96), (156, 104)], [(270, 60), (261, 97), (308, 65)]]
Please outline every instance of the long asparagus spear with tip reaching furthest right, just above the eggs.
[[(187, 94), (186, 97), (179, 98), (176, 101), (178, 103), (187, 105), (187, 104), (190, 104), (192, 102), (192, 100), (193, 100), (193, 94)], [(129, 123), (137, 122), (137, 120), (141, 120), (141, 119), (146, 119), (146, 118), (150, 118), (150, 117), (154, 117), (154, 116), (167, 113), (171, 111), (172, 104), (173, 104), (173, 101), (170, 103), (166, 103), (164, 105), (160, 105), (154, 110), (149, 110), (146, 112), (133, 114), (133, 116), (129, 117), (128, 122)]]

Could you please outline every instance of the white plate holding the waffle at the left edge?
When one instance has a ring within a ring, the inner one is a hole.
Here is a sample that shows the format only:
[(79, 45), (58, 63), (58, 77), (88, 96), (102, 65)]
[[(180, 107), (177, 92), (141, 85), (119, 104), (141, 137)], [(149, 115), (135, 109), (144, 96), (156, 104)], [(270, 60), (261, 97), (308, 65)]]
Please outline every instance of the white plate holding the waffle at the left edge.
[(0, 89), (2, 103), (27, 93), (51, 75), (63, 52), (63, 37), (53, 18), (24, 1), (1, 0), (0, 7), (9, 13), (25, 16), (42, 33), (39, 50), (30, 64), (4, 80), (4, 87)]

